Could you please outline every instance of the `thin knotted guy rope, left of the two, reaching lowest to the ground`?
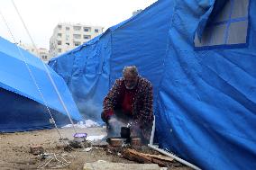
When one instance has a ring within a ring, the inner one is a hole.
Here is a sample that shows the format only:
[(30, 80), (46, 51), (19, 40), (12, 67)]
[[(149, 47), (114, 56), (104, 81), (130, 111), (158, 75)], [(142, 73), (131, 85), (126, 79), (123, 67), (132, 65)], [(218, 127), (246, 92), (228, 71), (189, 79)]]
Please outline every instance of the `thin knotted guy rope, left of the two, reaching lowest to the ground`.
[[(3, 21), (5, 22), (5, 25), (6, 25), (6, 27), (7, 27), (7, 30), (8, 30), (9, 33), (11, 34), (11, 37), (12, 37), (12, 39), (14, 40), (14, 43), (16, 44), (17, 42), (16, 42), (16, 40), (14, 39), (14, 34), (13, 34), (13, 32), (11, 31), (11, 29), (10, 29), (8, 23), (6, 22), (5, 17), (4, 17), (4, 15), (3, 15), (3, 13), (1, 12), (1, 10), (0, 10), (0, 15), (2, 16), (2, 19), (3, 19)], [(32, 81), (33, 81), (34, 85), (36, 86), (36, 88), (37, 88), (39, 94), (41, 95), (41, 98), (42, 98), (43, 103), (45, 104), (45, 106), (46, 106), (46, 108), (47, 108), (47, 111), (48, 111), (49, 114), (50, 114), (50, 120), (54, 120), (53, 117), (52, 117), (52, 114), (51, 114), (51, 112), (50, 112), (50, 109), (49, 109), (49, 107), (48, 107), (48, 104), (47, 104), (46, 100), (44, 99), (43, 94), (41, 93), (41, 89), (40, 89), (39, 85), (37, 84), (37, 82), (36, 82), (36, 80), (35, 80), (35, 77), (34, 77), (33, 74), (32, 74), (32, 70), (31, 70), (31, 68), (29, 67), (29, 65), (28, 65), (28, 63), (27, 63), (27, 61), (26, 61), (26, 58), (23, 56), (23, 53), (22, 53), (20, 47), (18, 47), (17, 45), (16, 45), (16, 47), (17, 47), (17, 49), (18, 49), (18, 51), (19, 51), (20, 56), (23, 58), (23, 62), (25, 63), (25, 66), (27, 67), (30, 76), (32, 77)], [(56, 130), (57, 130), (58, 133), (59, 133), (59, 138), (60, 138), (60, 139), (63, 139), (62, 136), (61, 136), (61, 134), (60, 134), (60, 132), (59, 132), (59, 129), (58, 129), (57, 124), (55, 123), (55, 121), (52, 121), (52, 123), (54, 124)], [(62, 142), (64, 143), (64, 141), (62, 141)], [(65, 143), (64, 143), (64, 144), (65, 144)]]

